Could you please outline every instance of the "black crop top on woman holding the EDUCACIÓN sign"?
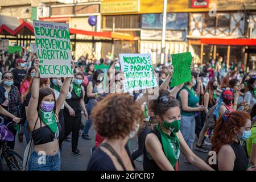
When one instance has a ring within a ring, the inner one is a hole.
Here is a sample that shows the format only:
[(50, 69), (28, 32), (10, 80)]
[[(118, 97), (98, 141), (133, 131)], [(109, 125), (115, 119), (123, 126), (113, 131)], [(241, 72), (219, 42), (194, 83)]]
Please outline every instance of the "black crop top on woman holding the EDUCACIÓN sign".
[[(38, 115), (38, 117), (39, 117), (39, 115)], [(36, 119), (36, 121), (37, 120), (38, 119)], [(40, 127), (39, 127), (39, 129), (36, 129), (31, 132), (31, 137), (34, 140), (35, 145), (45, 144), (45, 143), (53, 142), (53, 141), (59, 139), (61, 130), (62, 129), (61, 129), (60, 122), (57, 122), (57, 132), (55, 134), (49, 129), (49, 127), (47, 127), (47, 126), (42, 127), (42, 121), (40, 119)]]

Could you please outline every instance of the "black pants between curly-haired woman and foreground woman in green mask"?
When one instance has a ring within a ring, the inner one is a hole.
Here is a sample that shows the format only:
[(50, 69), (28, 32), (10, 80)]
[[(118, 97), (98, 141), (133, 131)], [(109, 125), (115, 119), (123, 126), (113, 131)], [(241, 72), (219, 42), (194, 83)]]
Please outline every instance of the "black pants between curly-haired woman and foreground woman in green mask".
[(139, 156), (143, 154), (144, 146), (145, 146), (145, 140), (148, 132), (151, 131), (151, 126), (146, 125), (140, 133), (138, 133), (138, 149), (131, 154), (131, 160), (137, 159)]

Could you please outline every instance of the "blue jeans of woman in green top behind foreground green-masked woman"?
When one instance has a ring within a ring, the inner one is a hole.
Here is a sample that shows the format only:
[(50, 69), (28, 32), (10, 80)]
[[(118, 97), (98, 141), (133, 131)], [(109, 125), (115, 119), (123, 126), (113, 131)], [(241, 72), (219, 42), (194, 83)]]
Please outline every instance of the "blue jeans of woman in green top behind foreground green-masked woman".
[(192, 116), (181, 115), (180, 131), (183, 135), (185, 142), (188, 144), (189, 148), (192, 151), (193, 151), (193, 143), (195, 142), (195, 130), (196, 130), (195, 115), (192, 115)]

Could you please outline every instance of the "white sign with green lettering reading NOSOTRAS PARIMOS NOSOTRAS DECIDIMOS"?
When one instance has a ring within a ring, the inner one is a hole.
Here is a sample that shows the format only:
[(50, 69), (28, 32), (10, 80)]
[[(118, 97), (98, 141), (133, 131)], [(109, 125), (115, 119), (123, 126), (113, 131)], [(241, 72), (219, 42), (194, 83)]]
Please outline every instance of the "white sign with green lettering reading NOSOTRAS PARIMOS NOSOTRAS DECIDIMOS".
[(158, 86), (149, 53), (119, 54), (121, 70), (125, 73), (125, 92)]

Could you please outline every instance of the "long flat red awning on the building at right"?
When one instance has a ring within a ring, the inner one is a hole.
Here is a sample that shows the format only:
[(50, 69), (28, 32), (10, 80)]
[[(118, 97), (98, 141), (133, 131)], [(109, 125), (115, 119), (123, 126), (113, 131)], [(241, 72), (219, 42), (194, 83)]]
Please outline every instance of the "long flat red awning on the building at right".
[(201, 39), (201, 43), (226, 46), (256, 46), (256, 39)]

